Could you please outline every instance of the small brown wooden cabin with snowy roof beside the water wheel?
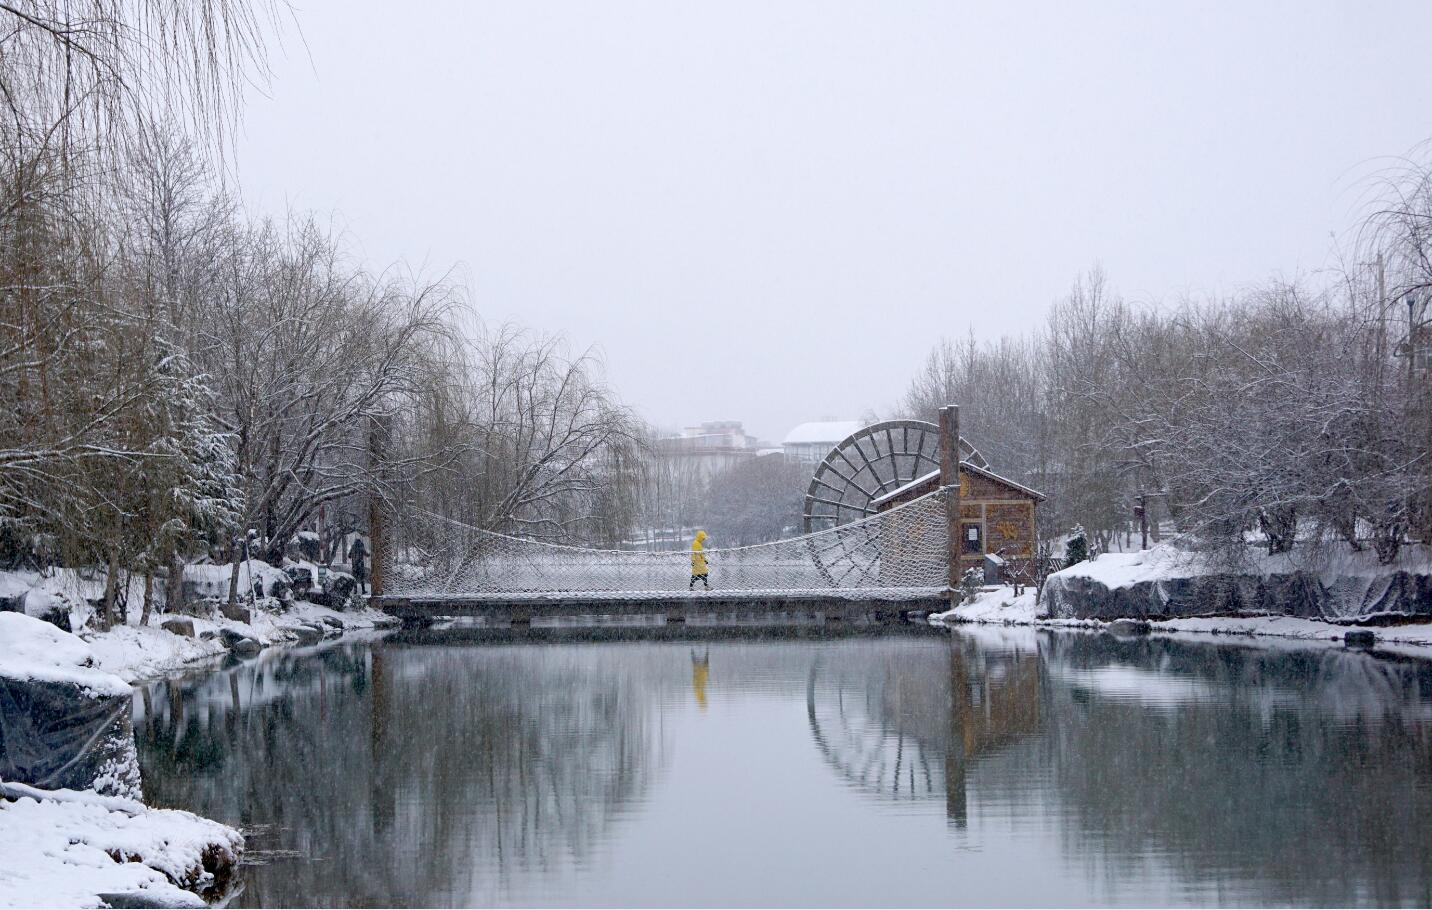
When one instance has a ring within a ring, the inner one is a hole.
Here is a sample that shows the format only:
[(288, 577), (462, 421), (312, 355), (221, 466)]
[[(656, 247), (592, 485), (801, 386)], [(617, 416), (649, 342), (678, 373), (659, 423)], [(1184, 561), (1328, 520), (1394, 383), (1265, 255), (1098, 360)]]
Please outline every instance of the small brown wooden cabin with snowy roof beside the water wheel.
[[(939, 489), (939, 471), (916, 477), (871, 502), (876, 512)], [(1038, 542), (1034, 510), (1045, 496), (972, 461), (959, 463), (959, 569), (982, 569), (985, 553), (1032, 559)]]

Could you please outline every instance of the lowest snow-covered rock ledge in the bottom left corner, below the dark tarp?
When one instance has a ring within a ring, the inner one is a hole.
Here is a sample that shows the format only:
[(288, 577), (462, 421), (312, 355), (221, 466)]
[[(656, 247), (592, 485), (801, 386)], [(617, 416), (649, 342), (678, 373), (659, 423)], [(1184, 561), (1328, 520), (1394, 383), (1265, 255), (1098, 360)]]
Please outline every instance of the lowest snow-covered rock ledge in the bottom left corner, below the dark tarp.
[(238, 831), (179, 810), (0, 782), (0, 907), (99, 907), (139, 893), (153, 906), (223, 897)]

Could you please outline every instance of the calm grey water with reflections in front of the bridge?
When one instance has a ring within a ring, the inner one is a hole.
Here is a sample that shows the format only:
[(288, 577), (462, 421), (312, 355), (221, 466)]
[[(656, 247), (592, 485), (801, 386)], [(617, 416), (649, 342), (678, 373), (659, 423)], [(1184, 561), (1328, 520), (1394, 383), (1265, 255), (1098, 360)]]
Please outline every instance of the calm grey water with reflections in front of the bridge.
[(238, 906), (1432, 904), (1432, 664), (1342, 648), (465, 629), (140, 695)]

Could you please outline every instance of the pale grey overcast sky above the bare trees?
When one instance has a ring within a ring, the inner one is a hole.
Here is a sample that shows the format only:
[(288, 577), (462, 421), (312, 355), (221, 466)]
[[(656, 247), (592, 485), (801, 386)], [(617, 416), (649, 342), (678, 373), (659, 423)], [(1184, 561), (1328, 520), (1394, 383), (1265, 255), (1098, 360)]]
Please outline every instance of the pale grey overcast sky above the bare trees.
[(1429, 3), (296, 3), (253, 209), (775, 440), (1094, 264), (1147, 301), (1313, 274), (1432, 136)]

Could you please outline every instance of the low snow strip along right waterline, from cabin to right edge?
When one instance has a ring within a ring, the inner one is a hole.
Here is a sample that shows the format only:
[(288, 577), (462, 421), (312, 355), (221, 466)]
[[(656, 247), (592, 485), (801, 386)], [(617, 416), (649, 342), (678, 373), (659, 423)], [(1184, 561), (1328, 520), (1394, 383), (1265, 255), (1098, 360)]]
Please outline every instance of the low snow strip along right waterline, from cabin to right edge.
[[(1104, 555), (1098, 562), (1104, 562)], [(1130, 566), (1120, 569), (1128, 572)], [(1031, 625), (1050, 628), (1101, 629), (1108, 623), (1097, 619), (1053, 619), (1041, 613), (1034, 603), (1034, 590), (1014, 596), (1014, 589), (994, 588), (979, 593), (972, 603), (962, 603), (952, 610), (932, 613), (931, 622), (972, 622), (994, 625)], [(1340, 643), (1352, 626), (1299, 619), (1296, 616), (1199, 616), (1189, 619), (1166, 619), (1151, 623), (1153, 633), (1184, 635), (1259, 635), (1282, 639), (1323, 641)], [(1378, 646), (1402, 653), (1432, 658), (1432, 623), (1405, 623), (1366, 628), (1376, 635)]]

